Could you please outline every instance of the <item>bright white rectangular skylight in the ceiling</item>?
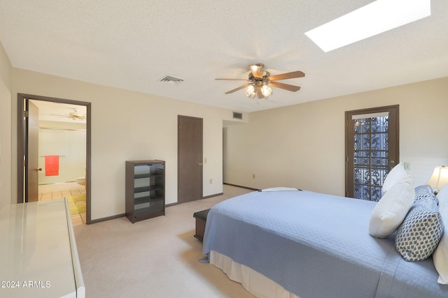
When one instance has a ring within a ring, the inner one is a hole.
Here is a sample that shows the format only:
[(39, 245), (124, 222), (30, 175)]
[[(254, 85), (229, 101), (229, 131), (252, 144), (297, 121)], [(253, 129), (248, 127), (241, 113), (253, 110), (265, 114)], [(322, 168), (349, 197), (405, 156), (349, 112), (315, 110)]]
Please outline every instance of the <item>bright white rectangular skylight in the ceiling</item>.
[(305, 34), (329, 52), (430, 14), (430, 0), (377, 0)]

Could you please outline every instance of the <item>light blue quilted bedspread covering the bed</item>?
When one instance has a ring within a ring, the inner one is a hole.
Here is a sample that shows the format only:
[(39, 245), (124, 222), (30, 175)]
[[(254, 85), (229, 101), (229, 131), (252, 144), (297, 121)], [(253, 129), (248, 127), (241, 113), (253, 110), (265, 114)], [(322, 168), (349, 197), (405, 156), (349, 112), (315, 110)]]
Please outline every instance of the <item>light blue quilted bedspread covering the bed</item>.
[(227, 255), (300, 298), (448, 297), (432, 258), (405, 262), (394, 236), (370, 237), (374, 204), (309, 191), (248, 193), (211, 208), (203, 252)]

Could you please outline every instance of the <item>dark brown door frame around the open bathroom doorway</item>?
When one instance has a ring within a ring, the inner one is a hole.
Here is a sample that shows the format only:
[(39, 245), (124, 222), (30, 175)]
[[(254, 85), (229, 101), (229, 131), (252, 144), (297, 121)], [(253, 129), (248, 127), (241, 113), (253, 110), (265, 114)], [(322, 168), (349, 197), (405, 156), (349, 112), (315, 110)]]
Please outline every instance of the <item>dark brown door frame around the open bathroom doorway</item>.
[(51, 103), (66, 103), (69, 105), (83, 105), (86, 107), (87, 111), (87, 123), (86, 123), (86, 148), (85, 148), (85, 200), (86, 200), (86, 223), (91, 223), (91, 212), (90, 212), (90, 195), (91, 195), (91, 183), (90, 183), (90, 173), (91, 173), (91, 127), (92, 127), (92, 113), (91, 113), (91, 103), (79, 100), (69, 100), (64, 98), (52, 98), (48, 96), (37, 96), (31, 94), (21, 94), (18, 93), (18, 198), (17, 202), (22, 203), (24, 201), (25, 195), (25, 167), (27, 164), (25, 163), (25, 150), (27, 145), (27, 124), (24, 120), (24, 109), (25, 109), (25, 99), (28, 100), (43, 100), (49, 101)]

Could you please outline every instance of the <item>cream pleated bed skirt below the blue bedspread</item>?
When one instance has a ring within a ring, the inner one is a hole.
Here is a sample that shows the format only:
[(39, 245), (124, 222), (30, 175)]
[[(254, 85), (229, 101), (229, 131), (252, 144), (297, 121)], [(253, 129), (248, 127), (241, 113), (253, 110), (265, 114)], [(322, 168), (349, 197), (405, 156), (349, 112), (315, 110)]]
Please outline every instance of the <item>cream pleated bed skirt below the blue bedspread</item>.
[(299, 298), (278, 283), (247, 266), (235, 262), (227, 255), (211, 251), (209, 259), (210, 264), (223, 270), (232, 281), (241, 283), (243, 288), (258, 298)]

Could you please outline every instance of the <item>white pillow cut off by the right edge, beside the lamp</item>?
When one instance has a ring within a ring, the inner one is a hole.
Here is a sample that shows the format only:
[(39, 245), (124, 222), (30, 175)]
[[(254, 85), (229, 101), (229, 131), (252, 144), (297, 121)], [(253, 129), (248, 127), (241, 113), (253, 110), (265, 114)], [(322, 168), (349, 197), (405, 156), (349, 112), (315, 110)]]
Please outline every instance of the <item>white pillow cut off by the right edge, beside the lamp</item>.
[(439, 200), (439, 213), (442, 216), (442, 223), (444, 225), (444, 233), (440, 239), (439, 245), (433, 253), (434, 266), (439, 273), (437, 283), (444, 285), (448, 284), (448, 184), (445, 185), (439, 193), (437, 193)]

